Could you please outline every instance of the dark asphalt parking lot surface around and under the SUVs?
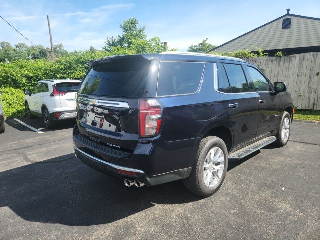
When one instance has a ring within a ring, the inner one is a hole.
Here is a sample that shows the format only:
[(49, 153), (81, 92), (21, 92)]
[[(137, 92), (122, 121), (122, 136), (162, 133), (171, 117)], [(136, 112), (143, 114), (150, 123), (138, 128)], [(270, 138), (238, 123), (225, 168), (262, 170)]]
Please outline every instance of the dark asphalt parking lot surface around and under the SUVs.
[(229, 164), (209, 198), (181, 181), (124, 186), (74, 157), (72, 127), (6, 120), (0, 239), (320, 239), (320, 124), (293, 122), (285, 147)]

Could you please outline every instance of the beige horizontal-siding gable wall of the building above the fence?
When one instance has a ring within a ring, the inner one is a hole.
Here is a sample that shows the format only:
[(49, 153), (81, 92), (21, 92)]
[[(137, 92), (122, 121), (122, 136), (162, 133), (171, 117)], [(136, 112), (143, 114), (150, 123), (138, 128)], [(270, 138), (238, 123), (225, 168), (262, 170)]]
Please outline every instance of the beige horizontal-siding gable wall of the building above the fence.
[[(282, 19), (291, 19), (291, 28), (282, 29)], [(231, 52), (239, 49), (256, 51), (254, 46), (263, 50), (308, 47), (320, 45), (320, 20), (295, 16), (284, 16), (258, 30), (225, 44), (215, 52)]]

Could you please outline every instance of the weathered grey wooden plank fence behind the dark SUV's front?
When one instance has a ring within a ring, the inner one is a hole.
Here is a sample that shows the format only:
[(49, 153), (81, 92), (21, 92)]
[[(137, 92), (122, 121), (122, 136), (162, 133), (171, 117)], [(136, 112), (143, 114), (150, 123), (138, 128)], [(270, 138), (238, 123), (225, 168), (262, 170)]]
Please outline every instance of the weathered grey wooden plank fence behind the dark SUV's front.
[(258, 66), (272, 83), (285, 82), (298, 109), (320, 110), (320, 52), (243, 60)]

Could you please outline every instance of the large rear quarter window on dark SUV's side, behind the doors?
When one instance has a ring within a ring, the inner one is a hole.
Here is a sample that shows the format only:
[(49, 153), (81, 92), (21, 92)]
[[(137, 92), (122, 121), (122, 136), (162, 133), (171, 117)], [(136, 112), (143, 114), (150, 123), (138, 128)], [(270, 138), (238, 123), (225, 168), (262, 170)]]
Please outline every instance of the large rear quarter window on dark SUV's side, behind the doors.
[(195, 93), (204, 69), (202, 62), (161, 62), (158, 96)]

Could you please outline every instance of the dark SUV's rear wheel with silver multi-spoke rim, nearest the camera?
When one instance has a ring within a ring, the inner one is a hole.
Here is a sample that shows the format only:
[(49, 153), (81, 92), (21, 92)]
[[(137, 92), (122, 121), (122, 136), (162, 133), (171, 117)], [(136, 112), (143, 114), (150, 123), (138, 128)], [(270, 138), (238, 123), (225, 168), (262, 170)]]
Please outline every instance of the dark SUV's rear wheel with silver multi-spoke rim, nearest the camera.
[(191, 173), (183, 179), (183, 183), (188, 190), (199, 196), (211, 196), (221, 187), (227, 168), (228, 151), (224, 141), (216, 136), (208, 136), (202, 139)]

